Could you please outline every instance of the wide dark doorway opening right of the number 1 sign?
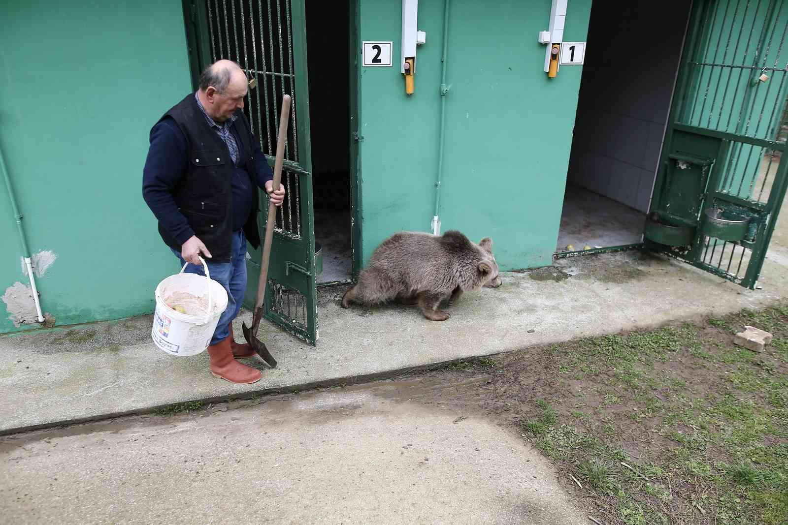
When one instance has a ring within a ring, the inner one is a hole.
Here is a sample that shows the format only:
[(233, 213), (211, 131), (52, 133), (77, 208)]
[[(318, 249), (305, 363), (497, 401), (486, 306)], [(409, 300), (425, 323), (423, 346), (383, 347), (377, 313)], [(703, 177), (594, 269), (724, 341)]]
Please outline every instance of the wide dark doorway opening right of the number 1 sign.
[(689, 4), (594, 2), (556, 253), (641, 242)]

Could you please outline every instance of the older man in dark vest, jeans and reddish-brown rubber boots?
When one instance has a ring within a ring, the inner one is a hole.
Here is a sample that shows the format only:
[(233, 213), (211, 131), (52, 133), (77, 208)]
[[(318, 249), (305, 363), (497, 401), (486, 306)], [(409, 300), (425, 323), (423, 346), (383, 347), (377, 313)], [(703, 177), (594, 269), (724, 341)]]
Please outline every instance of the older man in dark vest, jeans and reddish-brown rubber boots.
[(158, 219), (158, 231), (187, 272), (204, 275), (206, 257), (211, 279), (227, 290), (228, 304), (208, 347), (210, 372), (231, 383), (255, 383), (256, 368), (236, 361), (252, 357), (237, 344), (232, 320), (238, 315), (247, 285), (247, 240), (260, 245), (257, 187), (273, 205), (281, 205), (284, 188), (273, 191), (273, 174), (243, 114), (247, 79), (228, 60), (210, 65), (200, 76), (199, 91), (169, 109), (151, 129), (151, 146), (143, 169), (143, 198)]

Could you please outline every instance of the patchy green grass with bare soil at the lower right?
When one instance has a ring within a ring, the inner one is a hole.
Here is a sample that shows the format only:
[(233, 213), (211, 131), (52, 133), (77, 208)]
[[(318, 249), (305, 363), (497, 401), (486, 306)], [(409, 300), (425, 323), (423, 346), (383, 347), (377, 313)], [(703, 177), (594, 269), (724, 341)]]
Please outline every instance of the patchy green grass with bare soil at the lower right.
[[(764, 353), (732, 344), (745, 325), (775, 335)], [(582, 394), (543, 391), (524, 435), (603, 523), (788, 524), (788, 305), (542, 355)]]

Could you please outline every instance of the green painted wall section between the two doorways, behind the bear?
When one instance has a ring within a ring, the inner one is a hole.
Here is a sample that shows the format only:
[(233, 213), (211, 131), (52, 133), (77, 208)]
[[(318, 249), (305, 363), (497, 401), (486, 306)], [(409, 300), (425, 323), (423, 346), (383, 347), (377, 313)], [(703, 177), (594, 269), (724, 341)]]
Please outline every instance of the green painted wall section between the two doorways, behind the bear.
[[(543, 71), (550, 0), (454, 0), (448, 43), (441, 231), (490, 236), (502, 268), (551, 264), (582, 68)], [(361, 39), (393, 42), (392, 68), (362, 68), (363, 259), (400, 230), (429, 231), (440, 122), (444, 2), (418, 2), (415, 93), (404, 93), (401, 2), (360, 0)], [(564, 41), (584, 42), (591, 0), (572, 0)]]

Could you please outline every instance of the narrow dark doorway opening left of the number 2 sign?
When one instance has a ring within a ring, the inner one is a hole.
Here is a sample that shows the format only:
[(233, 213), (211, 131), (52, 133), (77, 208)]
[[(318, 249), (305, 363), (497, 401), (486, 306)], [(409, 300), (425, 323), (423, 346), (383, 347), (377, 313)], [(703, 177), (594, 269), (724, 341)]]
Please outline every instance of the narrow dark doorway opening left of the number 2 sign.
[[(307, 0), (307, 68), (318, 285), (352, 277), (350, 17)], [(318, 252), (319, 250), (319, 252)]]

